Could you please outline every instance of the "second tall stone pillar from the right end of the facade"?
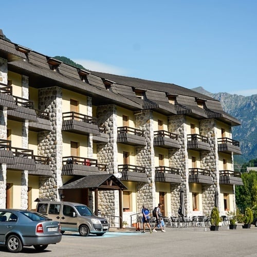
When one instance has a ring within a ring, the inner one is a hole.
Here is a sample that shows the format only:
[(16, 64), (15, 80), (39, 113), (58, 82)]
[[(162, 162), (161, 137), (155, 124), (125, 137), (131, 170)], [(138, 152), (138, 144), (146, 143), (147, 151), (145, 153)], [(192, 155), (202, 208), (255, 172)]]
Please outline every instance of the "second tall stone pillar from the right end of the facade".
[[(169, 163), (171, 168), (179, 170), (181, 176), (181, 187), (185, 193), (185, 209), (186, 214), (189, 213), (189, 183), (188, 183), (188, 150), (187, 150), (187, 128), (186, 128), (186, 116), (176, 115), (168, 117), (168, 130), (169, 132), (178, 135), (178, 142), (180, 149), (174, 149), (169, 151)], [(180, 205), (179, 201), (179, 189), (178, 185), (171, 185), (171, 215), (177, 216)]]

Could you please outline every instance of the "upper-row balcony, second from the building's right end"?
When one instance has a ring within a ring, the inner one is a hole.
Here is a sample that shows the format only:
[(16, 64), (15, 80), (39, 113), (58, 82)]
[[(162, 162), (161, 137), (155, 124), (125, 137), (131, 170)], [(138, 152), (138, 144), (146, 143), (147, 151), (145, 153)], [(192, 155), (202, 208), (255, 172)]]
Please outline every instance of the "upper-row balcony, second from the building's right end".
[(188, 138), (188, 149), (203, 152), (211, 151), (211, 146), (208, 143), (208, 138), (200, 136), (198, 134), (189, 134)]

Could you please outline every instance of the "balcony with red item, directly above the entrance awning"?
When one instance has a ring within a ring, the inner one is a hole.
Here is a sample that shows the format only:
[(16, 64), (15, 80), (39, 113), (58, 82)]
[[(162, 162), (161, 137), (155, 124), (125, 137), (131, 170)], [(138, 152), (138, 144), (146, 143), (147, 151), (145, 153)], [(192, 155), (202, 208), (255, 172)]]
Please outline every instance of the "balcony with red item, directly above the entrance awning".
[(102, 164), (98, 164), (96, 159), (78, 156), (63, 157), (62, 175), (88, 176), (99, 174), (106, 174), (106, 171), (103, 171)]

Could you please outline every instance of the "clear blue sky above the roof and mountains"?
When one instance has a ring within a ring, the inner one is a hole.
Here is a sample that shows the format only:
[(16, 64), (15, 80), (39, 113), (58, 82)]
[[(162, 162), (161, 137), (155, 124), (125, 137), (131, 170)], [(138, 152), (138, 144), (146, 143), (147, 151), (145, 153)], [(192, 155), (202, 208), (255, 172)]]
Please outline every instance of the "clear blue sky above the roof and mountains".
[(257, 94), (257, 1), (9, 0), (12, 42), (90, 70)]

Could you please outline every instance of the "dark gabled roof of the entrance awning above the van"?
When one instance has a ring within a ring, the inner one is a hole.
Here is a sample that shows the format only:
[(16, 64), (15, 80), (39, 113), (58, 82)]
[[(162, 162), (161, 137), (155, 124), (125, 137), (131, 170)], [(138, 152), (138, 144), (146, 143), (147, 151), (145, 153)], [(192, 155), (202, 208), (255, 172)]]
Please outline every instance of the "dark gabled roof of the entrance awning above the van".
[(72, 182), (67, 182), (59, 189), (88, 188), (91, 190), (124, 190), (127, 189), (123, 183), (113, 174), (90, 175)]

